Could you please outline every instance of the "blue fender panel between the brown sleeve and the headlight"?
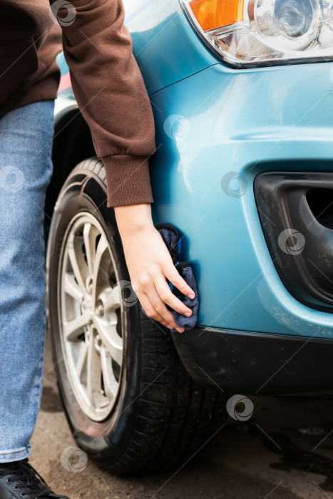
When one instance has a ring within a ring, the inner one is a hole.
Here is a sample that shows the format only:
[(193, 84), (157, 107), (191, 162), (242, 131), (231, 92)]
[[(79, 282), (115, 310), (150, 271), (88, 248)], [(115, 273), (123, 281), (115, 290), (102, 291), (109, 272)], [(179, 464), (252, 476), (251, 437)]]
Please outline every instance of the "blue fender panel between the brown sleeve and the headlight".
[(125, 0), (124, 4), (133, 53), (148, 93), (217, 63), (198, 41), (178, 0), (145, 0), (133, 5)]

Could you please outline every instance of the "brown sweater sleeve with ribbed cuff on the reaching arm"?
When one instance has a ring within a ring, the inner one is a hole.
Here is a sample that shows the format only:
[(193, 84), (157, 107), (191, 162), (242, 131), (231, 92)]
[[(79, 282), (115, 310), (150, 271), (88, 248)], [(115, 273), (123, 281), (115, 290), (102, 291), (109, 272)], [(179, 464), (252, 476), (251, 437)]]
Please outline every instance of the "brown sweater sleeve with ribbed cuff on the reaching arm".
[(123, 25), (122, 0), (50, 3), (62, 28), (78, 107), (106, 168), (108, 207), (153, 202), (148, 166), (155, 151), (153, 112)]

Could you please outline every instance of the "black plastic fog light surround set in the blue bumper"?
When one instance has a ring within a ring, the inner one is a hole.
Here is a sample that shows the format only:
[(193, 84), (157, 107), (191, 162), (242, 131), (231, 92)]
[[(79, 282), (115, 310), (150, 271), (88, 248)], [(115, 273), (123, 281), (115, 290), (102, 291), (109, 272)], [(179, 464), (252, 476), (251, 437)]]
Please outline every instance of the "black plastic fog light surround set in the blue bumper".
[(333, 173), (261, 173), (254, 190), (285, 287), (308, 307), (333, 312)]

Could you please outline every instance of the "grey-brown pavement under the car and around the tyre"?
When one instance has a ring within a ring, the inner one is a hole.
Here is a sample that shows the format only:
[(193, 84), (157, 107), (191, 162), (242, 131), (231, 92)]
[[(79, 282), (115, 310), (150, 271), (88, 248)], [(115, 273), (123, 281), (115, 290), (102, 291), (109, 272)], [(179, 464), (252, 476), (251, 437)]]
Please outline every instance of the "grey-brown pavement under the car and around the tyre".
[(230, 421), (179, 470), (124, 478), (90, 458), (78, 468), (66, 461), (76, 443), (47, 344), (30, 461), (53, 490), (71, 499), (333, 499), (333, 397), (251, 400), (250, 420)]

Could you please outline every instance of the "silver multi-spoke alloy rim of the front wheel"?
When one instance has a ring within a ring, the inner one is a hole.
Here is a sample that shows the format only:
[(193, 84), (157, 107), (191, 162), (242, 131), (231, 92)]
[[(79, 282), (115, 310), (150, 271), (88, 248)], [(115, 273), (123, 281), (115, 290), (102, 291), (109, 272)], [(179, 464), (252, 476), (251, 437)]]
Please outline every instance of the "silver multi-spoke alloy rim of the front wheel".
[(58, 313), (68, 379), (84, 413), (103, 421), (121, 384), (123, 303), (111, 247), (91, 213), (71, 220), (60, 262)]

